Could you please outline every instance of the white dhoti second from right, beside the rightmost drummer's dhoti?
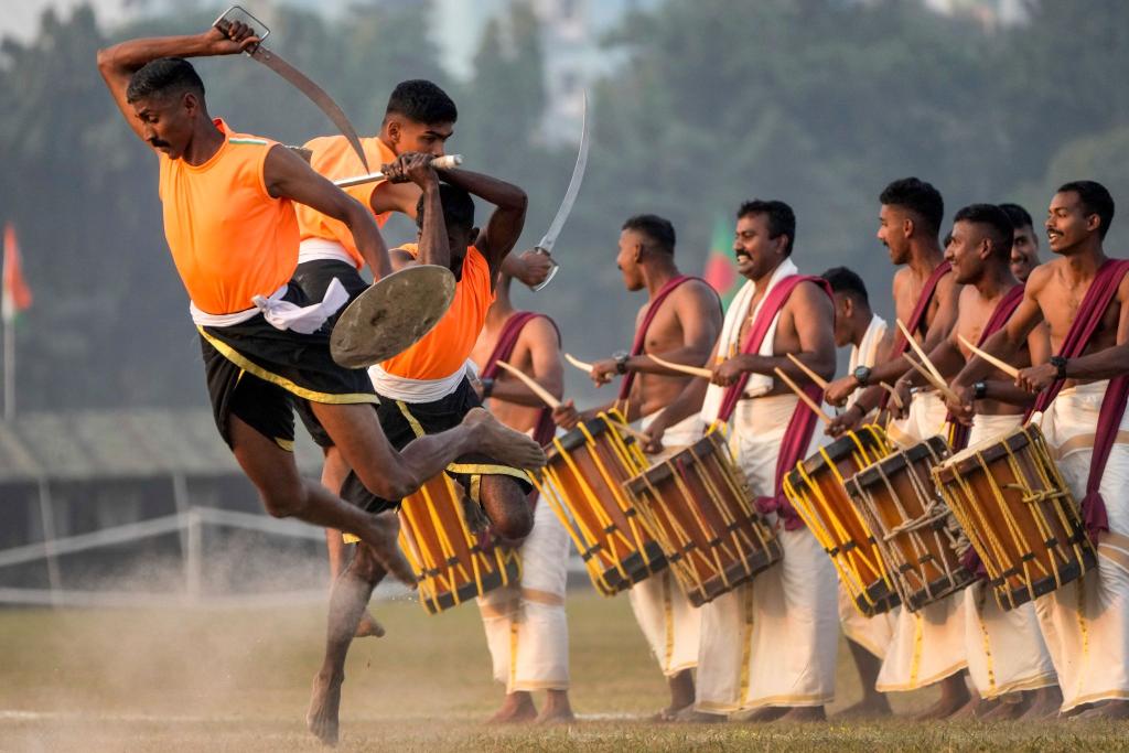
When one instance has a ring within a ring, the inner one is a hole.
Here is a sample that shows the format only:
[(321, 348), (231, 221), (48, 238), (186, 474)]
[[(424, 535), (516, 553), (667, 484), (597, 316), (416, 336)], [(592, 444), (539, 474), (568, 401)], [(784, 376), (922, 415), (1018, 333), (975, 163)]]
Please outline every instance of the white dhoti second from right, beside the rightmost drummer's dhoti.
[[(969, 446), (1000, 439), (1022, 423), (1022, 415), (977, 415)], [(964, 647), (969, 676), (981, 698), (1058, 682), (1035, 605), (1005, 611), (982, 580), (964, 589)]]

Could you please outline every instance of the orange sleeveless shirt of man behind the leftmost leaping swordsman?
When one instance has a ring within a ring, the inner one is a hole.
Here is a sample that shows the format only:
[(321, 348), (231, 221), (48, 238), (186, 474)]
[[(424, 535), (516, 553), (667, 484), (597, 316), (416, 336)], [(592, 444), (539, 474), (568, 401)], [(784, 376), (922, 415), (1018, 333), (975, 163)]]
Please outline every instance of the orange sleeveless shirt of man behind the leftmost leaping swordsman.
[[(396, 155), (378, 138), (361, 139), (360, 143), (365, 149), (365, 158), (368, 159), (368, 166), (374, 170), (380, 169), (380, 165), (396, 160)], [(365, 166), (360, 164), (360, 158), (357, 157), (357, 152), (352, 150), (349, 141), (343, 135), (322, 135), (310, 139), (303, 146), (314, 152), (309, 158), (309, 166), (331, 181), (365, 174)], [(373, 192), (384, 181), (364, 183), (342, 189), (342, 191), (365, 204), (366, 209), (371, 210)], [(306, 238), (336, 240), (352, 256), (357, 269), (365, 265), (364, 257), (357, 251), (352, 233), (349, 231), (344, 222), (332, 217), (326, 217), (316, 209), (306, 207), (305, 204), (295, 204), (295, 211), (298, 216), (298, 234), (303, 240)], [(384, 227), (384, 224), (388, 221), (388, 214), (391, 212), (376, 214), (377, 226)]]

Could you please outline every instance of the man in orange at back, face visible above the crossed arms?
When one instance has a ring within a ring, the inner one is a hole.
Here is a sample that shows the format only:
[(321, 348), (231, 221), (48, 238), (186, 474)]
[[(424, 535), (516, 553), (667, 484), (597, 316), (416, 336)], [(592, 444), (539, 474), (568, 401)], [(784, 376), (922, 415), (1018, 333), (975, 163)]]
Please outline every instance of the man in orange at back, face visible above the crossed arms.
[[(345, 192), (373, 211), (379, 227), (384, 227), (392, 212), (402, 212), (415, 219), (415, 207), (422, 192), (415, 182), (406, 177), (405, 170), (420, 160), (441, 157), (455, 132), (457, 120), (458, 110), (441, 88), (423, 79), (401, 81), (388, 97), (379, 133), (360, 140), (369, 166), (387, 167), (394, 164), (396, 169), (388, 172), (390, 180), (362, 183), (345, 189)], [(331, 180), (353, 177), (365, 172), (343, 135), (317, 137), (303, 145), (303, 149), (309, 155), (310, 166)], [(440, 170), (439, 175), (446, 173)], [(349, 228), (342, 222), (304, 205), (297, 207), (297, 217), (301, 244), (298, 246), (298, 268), (294, 280), (310, 298), (321, 298), (334, 278), (344, 284), (350, 297), (360, 295), (368, 287), (360, 275), (366, 264), (377, 277), (387, 273), (387, 270), (378, 272), (373, 266), (373, 260), (361, 255)], [(533, 286), (544, 280), (552, 260), (545, 254), (525, 253), (519, 257), (506, 256), (504, 264), (510, 274)], [(325, 455), (322, 483), (336, 492), (349, 473), (349, 465), (317, 423), (308, 402), (297, 401), (296, 406), (307, 431)], [(336, 577), (344, 561), (341, 532), (326, 529), (325, 534), (330, 570)], [(357, 636), (383, 633), (383, 628), (366, 611), (357, 625)]]

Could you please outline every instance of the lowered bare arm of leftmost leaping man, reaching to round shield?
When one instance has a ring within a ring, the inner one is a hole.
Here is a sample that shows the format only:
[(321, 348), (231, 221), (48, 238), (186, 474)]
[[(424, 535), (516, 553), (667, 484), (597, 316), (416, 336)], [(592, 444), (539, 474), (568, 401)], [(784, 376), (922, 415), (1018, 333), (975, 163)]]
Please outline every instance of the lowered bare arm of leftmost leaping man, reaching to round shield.
[(272, 196), (297, 201), (344, 222), (377, 280), (392, 272), (388, 248), (371, 213), (359, 201), (314, 172), (301, 157), (275, 145), (263, 164), (263, 182)]

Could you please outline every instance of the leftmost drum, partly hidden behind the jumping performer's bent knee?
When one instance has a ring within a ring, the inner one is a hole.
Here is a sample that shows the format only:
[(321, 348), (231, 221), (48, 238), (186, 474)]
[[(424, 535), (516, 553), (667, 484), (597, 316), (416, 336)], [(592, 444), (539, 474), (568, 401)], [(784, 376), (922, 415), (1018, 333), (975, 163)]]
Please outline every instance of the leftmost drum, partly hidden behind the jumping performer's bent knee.
[(520, 578), (516, 552), (483, 548), (485, 535), (466, 524), (463, 488), (446, 473), (430, 479), (400, 506), (400, 548), (419, 580), (420, 603), (431, 614)]

